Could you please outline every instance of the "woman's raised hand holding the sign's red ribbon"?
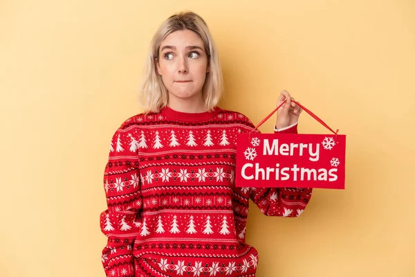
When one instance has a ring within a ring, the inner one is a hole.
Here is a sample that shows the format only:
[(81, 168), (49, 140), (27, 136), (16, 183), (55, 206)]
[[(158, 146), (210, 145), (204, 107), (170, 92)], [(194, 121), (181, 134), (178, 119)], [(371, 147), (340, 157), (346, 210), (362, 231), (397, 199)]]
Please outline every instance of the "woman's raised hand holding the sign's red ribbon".
[(299, 105), (295, 104), (295, 102), (291, 101), (294, 100), (294, 98), (291, 97), (290, 93), (288, 93), (286, 90), (281, 91), (279, 94), (277, 107), (281, 105), (285, 100), (287, 101), (277, 111), (277, 122), (275, 123), (277, 129), (282, 129), (297, 123), (299, 114), (302, 112), (302, 108), (300, 108)]

